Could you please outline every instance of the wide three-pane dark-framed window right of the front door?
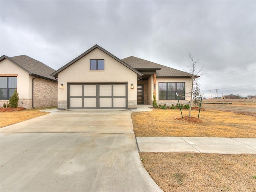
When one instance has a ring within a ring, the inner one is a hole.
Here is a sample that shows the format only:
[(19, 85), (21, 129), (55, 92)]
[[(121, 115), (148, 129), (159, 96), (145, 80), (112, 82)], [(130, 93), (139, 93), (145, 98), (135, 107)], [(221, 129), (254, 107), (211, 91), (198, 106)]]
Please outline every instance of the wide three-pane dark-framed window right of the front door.
[[(159, 100), (185, 100), (185, 83), (163, 82), (158, 84)], [(178, 97), (176, 96), (178, 93)]]

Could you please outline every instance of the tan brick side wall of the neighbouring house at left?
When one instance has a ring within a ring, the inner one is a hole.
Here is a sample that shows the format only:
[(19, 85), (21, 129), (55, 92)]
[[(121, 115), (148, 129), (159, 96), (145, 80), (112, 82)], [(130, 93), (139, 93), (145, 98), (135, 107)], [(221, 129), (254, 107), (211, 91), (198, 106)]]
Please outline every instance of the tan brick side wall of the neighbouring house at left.
[(42, 78), (34, 78), (34, 108), (57, 106), (58, 84)]

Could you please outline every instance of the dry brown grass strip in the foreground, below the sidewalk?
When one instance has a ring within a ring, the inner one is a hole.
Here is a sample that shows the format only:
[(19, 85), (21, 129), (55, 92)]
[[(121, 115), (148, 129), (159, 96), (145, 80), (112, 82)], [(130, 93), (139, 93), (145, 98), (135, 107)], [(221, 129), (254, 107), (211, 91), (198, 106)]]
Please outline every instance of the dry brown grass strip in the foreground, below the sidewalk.
[(164, 192), (256, 191), (256, 154), (140, 152), (140, 158)]

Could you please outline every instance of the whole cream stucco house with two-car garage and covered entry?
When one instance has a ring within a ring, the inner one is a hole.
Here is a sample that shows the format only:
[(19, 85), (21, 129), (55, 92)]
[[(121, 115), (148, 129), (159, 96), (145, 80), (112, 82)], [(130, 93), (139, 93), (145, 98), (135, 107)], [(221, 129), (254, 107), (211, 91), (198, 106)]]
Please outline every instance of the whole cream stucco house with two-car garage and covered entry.
[[(95, 45), (52, 73), (58, 108), (136, 109), (137, 104), (188, 103), (190, 74), (130, 56), (119, 59)], [(178, 96), (177, 96), (177, 94)]]

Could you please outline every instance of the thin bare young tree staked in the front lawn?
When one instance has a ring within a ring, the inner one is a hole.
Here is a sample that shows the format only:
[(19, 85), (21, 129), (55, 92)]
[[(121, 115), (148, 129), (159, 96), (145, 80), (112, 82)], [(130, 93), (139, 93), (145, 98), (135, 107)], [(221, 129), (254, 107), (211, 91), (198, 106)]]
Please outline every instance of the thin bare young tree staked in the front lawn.
[[(194, 56), (192, 56), (192, 54), (190, 52), (188, 52), (188, 57), (190, 58), (190, 62), (191, 62), (191, 65), (188, 66), (190, 67), (190, 78), (192, 79), (192, 86), (191, 86), (191, 90), (190, 90), (190, 108), (189, 108), (189, 117), (191, 117), (191, 106), (192, 106), (192, 99), (193, 99), (193, 94), (196, 97), (198, 97), (200, 95), (200, 89), (199, 89), (199, 84), (196, 84), (198, 83), (196, 78), (200, 77), (201, 74), (201, 71), (202, 69), (204, 68), (204, 66), (199, 70), (197, 71), (197, 64), (198, 64), (198, 58), (194, 58)], [(194, 89), (194, 87), (196, 89)], [(198, 92), (199, 90), (199, 92)]]

